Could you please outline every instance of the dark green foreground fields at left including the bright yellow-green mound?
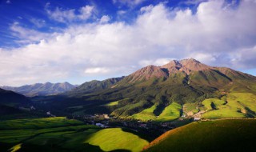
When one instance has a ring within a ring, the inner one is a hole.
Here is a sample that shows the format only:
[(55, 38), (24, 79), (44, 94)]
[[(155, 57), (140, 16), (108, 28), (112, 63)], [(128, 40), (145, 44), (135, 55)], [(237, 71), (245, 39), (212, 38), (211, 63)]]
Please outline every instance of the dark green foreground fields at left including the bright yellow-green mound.
[(139, 151), (148, 143), (121, 128), (102, 129), (66, 118), (0, 122), (0, 151)]

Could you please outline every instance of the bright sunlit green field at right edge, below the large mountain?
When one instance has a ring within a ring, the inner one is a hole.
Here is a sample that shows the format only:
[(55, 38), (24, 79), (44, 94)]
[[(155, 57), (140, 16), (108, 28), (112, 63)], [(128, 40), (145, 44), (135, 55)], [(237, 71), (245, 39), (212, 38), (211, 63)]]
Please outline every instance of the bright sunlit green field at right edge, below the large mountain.
[(202, 118), (254, 118), (256, 116), (256, 95), (230, 93), (221, 99), (209, 98), (202, 102), (206, 113)]

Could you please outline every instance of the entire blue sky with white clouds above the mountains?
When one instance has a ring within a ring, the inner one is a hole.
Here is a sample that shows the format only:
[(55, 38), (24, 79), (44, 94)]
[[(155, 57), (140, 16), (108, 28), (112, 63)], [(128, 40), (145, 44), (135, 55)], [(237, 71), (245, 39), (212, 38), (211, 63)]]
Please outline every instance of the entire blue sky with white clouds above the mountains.
[(256, 75), (256, 2), (0, 1), (0, 86), (127, 75), (196, 58)]

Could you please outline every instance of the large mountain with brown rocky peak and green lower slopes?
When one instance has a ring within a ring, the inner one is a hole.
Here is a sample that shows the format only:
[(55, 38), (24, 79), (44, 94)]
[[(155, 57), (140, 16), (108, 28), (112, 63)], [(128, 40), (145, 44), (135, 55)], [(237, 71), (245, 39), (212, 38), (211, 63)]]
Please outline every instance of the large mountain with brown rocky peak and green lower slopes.
[(256, 77), (194, 58), (146, 66), (114, 83), (86, 82), (70, 92), (36, 101), (65, 114), (111, 114), (156, 122), (256, 117)]

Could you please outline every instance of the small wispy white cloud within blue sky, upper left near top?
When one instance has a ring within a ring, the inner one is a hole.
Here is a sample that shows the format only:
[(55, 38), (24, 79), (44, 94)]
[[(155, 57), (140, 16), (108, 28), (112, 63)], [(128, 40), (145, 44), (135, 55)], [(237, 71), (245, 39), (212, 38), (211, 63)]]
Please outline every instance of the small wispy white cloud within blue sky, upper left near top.
[(94, 6), (82, 6), (78, 13), (76, 10), (63, 10), (61, 8), (56, 7), (54, 11), (50, 10), (50, 3), (46, 4), (46, 12), (50, 18), (54, 19), (58, 22), (72, 22), (77, 20), (87, 20), (92, 15), (92, 11), (94, 10)]

